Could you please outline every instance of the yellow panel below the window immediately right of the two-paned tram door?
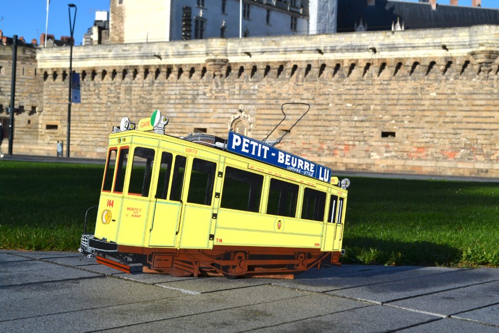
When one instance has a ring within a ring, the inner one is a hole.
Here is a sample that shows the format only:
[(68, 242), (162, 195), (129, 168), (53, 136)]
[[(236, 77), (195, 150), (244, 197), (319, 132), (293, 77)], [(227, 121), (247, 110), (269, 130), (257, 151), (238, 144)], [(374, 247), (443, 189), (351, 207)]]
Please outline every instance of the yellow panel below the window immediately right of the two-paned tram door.
[(190, 249), (208, 249), (211, 220), (211, 207), (205, 208), (185, 205), (180, 247)]

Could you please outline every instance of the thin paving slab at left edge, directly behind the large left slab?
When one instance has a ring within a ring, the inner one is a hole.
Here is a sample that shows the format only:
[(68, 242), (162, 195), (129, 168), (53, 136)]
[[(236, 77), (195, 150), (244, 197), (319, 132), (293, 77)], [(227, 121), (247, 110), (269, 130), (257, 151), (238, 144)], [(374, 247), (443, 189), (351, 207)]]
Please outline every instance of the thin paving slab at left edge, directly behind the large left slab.
[(0, 287), (40, 283), (49, 281), (62, 281), (70, 279), (92, 278), (100, 274), (77, 270), (71, 267), (50, 268), (36, 271), (22, 271), (13, 273), (0, 273)]

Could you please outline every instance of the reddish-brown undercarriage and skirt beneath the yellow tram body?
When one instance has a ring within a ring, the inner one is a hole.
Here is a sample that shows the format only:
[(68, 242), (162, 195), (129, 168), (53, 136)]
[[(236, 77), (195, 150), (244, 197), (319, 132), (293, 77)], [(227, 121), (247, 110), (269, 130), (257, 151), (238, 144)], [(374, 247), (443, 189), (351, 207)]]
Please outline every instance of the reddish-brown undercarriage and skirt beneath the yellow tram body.
[(320, 249), (214, 246), (213, 250), (118, 245), (118, 252), (144, 256), (144, 271), (174, 276), (261, 276), (303, 272), (339, 264), (340, 252)]

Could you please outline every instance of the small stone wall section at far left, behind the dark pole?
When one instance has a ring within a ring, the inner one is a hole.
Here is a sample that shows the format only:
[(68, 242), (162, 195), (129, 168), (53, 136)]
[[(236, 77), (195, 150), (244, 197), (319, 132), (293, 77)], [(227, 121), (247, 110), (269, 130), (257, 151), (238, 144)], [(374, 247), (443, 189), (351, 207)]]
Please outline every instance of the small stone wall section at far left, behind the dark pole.
[[(10, 104), (10, 85), (12, 75), (12, 45), (0, 44), (0, 118), (4, 131), (8, 130), (7, 108)], [(37, 70), (35, 49), (17, 46), (17, 70), (14, 107), (20, 110), (14, 114), (13, 153), (25, 152), (16, 149), (16, 144), (25, 146), (38, 142), (41, 130), (39, 115), (43, 110), (41, 94), (42, 80)], [(2, 151), (7, 152), (8, 140), (3, 140)]]

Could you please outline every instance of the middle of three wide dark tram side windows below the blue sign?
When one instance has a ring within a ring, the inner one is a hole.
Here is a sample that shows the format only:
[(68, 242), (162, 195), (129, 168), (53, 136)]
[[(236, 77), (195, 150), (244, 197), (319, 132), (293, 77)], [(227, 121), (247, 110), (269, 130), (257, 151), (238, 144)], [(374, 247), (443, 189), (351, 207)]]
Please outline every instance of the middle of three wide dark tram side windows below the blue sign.
[(270, 179), (267, 214), (294, 217), (298, 199), (298, 185)]

